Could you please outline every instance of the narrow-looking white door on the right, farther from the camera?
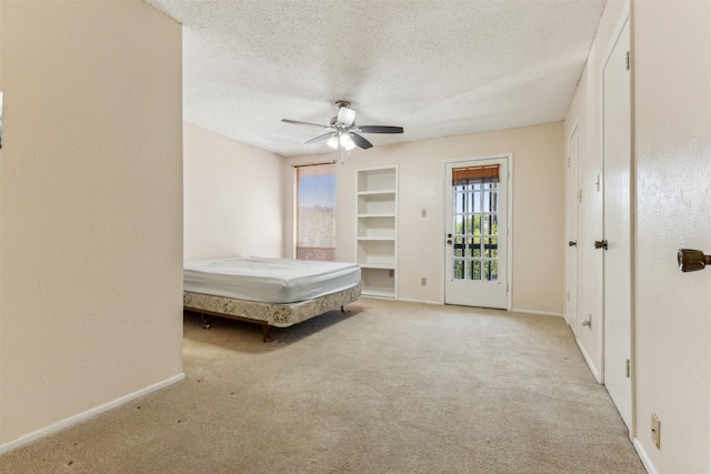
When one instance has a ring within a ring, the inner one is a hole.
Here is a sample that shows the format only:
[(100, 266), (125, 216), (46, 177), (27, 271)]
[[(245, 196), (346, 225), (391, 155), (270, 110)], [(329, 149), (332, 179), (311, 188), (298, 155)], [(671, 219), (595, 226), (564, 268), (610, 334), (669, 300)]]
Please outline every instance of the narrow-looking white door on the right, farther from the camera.
[(578, 127), (568, 140), (568, 269), (565, 320), (578, 335)]

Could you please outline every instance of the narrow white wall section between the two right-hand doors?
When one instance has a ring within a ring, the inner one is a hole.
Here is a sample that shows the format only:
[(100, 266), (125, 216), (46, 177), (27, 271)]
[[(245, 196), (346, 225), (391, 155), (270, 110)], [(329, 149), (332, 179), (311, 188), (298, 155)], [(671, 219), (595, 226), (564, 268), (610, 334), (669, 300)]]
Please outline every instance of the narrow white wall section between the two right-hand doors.
[[(578, 208), (578, 344), (598, 380), (602, 369), (602, 253), (594, 249), (593, 242), (602, 239), (602, 192), (597, 184), (602, 182), (600, 71), (625, 4), (619, 0), (609, 0), (605, 4), (564, 125), (568, 147), (568, 139), (578, 124), (579, 186), (582, 191), (582, 202)], [(583, 326), (581, 321), (588, 319), (592, 324)]]

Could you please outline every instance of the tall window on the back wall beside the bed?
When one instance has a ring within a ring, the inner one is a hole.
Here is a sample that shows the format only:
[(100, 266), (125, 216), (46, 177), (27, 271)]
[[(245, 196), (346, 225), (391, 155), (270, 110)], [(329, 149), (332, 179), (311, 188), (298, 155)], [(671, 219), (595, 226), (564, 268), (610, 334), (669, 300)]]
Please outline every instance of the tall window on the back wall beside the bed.
[(297, 259), (336, 260), (336, 165), (297, 167)]

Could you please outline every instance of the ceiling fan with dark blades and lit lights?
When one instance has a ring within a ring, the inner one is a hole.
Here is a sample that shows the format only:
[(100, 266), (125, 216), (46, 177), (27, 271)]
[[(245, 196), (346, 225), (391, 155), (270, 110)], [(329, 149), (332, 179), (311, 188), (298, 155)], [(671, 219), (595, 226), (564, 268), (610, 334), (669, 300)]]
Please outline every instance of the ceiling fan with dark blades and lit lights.
[(338, 109), (338, 115), (331, 119), (329, 125), (319, 125), (318, 123), (299, 122), (297, 120), (281, 119), (286, 123), (294, 123), (297, 125), (319, 127), (327, 130), (327, 133), (313, 138), (304, 144), (317, 143), (328, 140), (327, 144), (333, 150), (340, 147), (342, 150), (350, 151), (356, 147), (367, 150), (373, 144), (365, 140), (360, 133), (402, 133), (402, 127), (390, 125), (357, 125), (356, 111), (351, 109), (351, 103), (346, 100), (339, 100), (334, 103)]

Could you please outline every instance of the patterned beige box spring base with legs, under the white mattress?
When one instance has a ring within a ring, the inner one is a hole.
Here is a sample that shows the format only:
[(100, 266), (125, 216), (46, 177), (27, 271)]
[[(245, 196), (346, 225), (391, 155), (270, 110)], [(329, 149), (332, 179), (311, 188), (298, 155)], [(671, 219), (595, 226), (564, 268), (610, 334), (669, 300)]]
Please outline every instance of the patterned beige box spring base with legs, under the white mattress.
[(270, 342), (271, 327), (289, 327), (313, 316), (327, 313), (360, 299), (361, 284), (330, 293), (313, 300), (297, 303), (278, 304), (257, 301), (234, 300), (209, 294), (182, 293), (183, 310), (202, 315), (203, 327), (210, 327), (208, 315), (247, 321), (262, 326), (263, 341)]

